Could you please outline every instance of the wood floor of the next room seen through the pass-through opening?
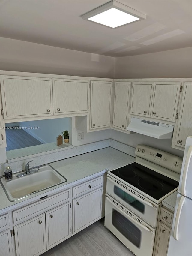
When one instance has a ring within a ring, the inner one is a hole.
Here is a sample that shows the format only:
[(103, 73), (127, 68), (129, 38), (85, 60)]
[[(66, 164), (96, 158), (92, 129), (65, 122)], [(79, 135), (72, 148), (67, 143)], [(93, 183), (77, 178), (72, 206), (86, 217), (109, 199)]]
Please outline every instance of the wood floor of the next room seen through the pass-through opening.
[(23, 129), (6, 129), (6, 151), (43, 144)]

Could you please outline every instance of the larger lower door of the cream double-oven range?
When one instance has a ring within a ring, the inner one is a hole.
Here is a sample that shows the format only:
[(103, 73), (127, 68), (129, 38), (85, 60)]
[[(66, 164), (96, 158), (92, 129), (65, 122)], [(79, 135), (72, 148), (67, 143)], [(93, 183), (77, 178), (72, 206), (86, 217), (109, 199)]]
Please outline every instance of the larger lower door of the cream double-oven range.
[(152, 256), (155, 229), (106, 194), (105, 226), (137, 256)]

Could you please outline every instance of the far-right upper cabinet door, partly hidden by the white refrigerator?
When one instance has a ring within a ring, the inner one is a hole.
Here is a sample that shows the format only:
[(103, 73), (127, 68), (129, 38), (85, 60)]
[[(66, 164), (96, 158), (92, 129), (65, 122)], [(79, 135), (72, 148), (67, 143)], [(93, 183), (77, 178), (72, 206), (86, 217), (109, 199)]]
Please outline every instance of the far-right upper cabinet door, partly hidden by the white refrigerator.
[(187, 136), (192, 135), (192, 83), (184, 83), (181, 111), (176, 131), (176, 146), (184, 148)]

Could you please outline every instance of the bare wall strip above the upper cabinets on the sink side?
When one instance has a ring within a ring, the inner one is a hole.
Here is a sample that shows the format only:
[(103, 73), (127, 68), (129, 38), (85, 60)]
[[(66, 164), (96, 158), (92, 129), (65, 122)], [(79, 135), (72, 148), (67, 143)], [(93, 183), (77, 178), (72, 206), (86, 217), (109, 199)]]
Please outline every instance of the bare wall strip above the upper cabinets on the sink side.
[(0, 37), (0, 70), (114, 77), (115, 58)]

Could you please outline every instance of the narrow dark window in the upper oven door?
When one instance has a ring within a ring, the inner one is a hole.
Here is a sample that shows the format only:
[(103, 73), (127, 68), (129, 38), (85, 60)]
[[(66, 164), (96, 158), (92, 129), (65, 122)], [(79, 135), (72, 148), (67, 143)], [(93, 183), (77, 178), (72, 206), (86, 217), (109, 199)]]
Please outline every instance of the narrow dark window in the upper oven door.
[(136, 198), (132, 197), (125, 191), (123, 191), (121, 188), (118, 188), (117, 186), (114, 186), (113, 192), (120, 197), (122, 200), (124, 200), (129, 205), (133, 206), (138, 211), (144, 213), (145, 212), (145, 205), (138, 201)]

